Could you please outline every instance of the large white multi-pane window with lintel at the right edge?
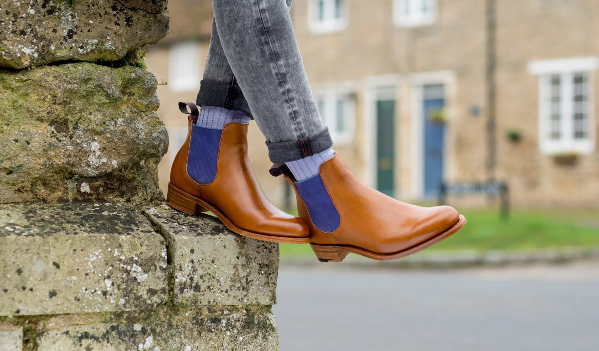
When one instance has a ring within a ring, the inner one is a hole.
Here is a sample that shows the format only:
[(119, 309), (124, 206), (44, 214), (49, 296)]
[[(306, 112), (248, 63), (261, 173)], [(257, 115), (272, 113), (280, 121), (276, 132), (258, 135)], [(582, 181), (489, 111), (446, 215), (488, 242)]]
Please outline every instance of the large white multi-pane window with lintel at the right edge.
[(599, 60), (534, 61), (539, 75), (539, 149), (545, 154), (592, 153), (595, 149), (594, 79)]

